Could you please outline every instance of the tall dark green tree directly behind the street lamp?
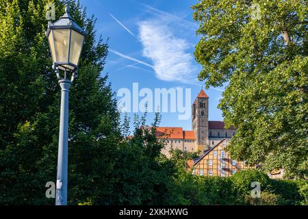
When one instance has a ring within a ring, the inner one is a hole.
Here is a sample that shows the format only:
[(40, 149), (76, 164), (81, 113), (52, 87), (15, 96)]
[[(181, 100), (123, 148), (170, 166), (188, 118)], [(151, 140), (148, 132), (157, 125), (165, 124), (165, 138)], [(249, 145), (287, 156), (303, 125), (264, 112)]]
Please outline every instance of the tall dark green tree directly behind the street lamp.
[[(45, 184), (56, 179), (60, 88), (44, 36), (49, 2), (0, 0), (1, 204), (54, 204)], [(64, 3), (52, 2), (59, 18)], [(95, 19), (79, 2), (66, 2), (90, 33), (70, 90), (68, 202), (77, 204), (112, 196), (120, 126), (112, 89), (101, 77), (107, 44), (95, 40)]]

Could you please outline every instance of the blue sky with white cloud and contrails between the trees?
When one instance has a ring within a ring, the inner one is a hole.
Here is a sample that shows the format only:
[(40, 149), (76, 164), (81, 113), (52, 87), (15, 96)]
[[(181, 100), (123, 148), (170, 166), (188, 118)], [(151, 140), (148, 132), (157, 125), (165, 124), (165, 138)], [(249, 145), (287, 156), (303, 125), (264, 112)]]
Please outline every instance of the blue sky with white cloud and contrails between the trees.
[[(197, 80), (201, 66), (193, 55), (201, 38), (195, 34), (198, 24), (192, 20), (190, 8), (196, 2), (81, 0), (88, 15), (97, 18), (97, 35), (103, 40), (109, 38), (110, 52), (102, 74), (108, 73), (114, 92), (120, 88), (132, 91), (133, 83), (153, 92), (155, 88), (191, 88), (194, 101), (204, 84)], [(209, 120), (222, 120), (217, 109), (222, 90), (205, 90), (209, 96)], [(149, 113), (149, 123), (153, 116)], [(178, 116), (177, 112), (162, 113), (160, 125), (191, 130), (191, 120), (179, 120)]]

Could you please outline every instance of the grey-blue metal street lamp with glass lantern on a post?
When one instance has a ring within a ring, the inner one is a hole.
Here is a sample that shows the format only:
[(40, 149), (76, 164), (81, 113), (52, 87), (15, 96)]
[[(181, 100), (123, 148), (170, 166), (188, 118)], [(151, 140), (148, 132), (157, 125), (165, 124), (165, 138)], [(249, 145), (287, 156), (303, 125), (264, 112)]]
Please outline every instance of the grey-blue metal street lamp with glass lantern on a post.
[[(55, 205), (66, 205), (67, 203), (68, 92), (78, 75), (79, 58), (87, 34), (70, 16), (68, 7), (66, 7), (65, 14), (60, 17), (60, 20), (55, 21), (55, 23), (49, 23), (46, 31), (53, 59), (53, 70), (55, 70), (61, 87)], [(70, 79), (68, 79), (69, 76)]]

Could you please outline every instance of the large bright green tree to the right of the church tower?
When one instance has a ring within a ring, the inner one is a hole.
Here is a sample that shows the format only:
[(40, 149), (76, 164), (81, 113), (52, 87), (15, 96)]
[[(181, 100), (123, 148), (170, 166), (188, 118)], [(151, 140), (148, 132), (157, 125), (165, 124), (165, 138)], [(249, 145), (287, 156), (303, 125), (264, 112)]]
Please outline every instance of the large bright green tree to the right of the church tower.
[(238, 129), (232, 157), (307, 177), (307, 2), (203, 0), (192, 8), (202, 36), (198, 79), (227, 85), (219, 108)]

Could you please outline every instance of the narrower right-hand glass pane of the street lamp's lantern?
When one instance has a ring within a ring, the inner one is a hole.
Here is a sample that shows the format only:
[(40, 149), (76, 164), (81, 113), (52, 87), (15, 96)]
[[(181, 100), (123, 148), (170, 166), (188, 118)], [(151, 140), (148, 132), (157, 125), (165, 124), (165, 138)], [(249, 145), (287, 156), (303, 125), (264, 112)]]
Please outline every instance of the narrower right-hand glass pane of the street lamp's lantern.
[(70, 38), (70, 63), (78, 65), (83, 45), (84, 36), (72, 30), (72, 35)]

